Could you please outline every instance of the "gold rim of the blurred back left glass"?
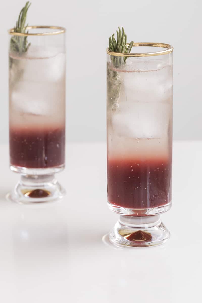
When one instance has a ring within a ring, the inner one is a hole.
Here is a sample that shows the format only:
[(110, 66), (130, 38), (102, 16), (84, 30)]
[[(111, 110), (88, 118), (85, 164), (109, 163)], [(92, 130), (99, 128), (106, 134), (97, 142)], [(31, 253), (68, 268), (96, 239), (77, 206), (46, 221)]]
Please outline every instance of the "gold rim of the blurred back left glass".
[(13, 36), (47, 36), (47, 35), (58, 35), (65, 33), (66, 29), (61, 26), (53, 26), (53, 25), (30, 25), (27, 26), (26, 29), (33, 29), (33, 28), (52, 28), (56, 29), (54, 32), (44, 32), (44, 33), (16, 33), (14, 32), (14, 28), (8, 30), (8, 33)]

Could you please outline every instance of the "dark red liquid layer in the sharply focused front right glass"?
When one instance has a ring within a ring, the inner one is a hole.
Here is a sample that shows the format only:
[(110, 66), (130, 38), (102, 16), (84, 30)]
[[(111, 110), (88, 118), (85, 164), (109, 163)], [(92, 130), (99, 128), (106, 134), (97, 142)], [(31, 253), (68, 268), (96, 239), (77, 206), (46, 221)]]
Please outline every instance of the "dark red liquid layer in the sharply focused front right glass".
[(111, 204), (140, 209), (171, 201), (171, 160), (108, 160), (107, 176)]

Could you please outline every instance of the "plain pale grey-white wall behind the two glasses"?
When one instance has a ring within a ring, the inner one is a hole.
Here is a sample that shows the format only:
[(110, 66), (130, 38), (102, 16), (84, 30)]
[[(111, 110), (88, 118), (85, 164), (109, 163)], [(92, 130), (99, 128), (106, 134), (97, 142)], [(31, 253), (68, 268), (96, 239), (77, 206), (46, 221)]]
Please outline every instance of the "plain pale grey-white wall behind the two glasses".
[[(0, 143), (8, 142), (8, 35), (25, 0), (1, 3)], [(174, 46), (174, 139), (202, 139), (200, 0), (32, 1), (29, 25), (67, 28), (67, 140), (104, 141), (106, 47), (124, 26), (128, 41)]]

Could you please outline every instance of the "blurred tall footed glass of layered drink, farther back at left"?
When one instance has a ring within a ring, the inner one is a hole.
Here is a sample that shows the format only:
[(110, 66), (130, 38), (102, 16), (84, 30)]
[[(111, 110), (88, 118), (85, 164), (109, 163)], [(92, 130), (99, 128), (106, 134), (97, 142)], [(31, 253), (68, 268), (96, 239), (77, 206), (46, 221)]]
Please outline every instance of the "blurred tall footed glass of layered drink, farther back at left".
[(55, 173), (65, 167), (65, 29), (9, 31), (10, 169), (21, 175), (8, 198), (60, 199)]

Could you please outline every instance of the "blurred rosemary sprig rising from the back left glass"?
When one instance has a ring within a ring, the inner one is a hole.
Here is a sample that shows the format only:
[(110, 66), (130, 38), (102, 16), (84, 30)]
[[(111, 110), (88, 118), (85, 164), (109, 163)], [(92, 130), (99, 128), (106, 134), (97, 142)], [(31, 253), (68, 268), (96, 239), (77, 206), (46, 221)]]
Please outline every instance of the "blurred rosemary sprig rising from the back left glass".
[[(25, 25), (26, 17), (27, 17), (27, 10), (30, 7), (31, 3), (27, 1), (25, 3), (25, 7), (22, 8), (20, 15), (18, 17), (18, 21), (16, 22), (16, 26), (14, 27), (14, 32), (16, 33), (28, 33), (26, 31), (27, 25)], [(30, 43), (27, 43), (27, 36), (12, 36), (10, 41), (10, 50), (13, 52), (26, 52), (30, 46)]]

